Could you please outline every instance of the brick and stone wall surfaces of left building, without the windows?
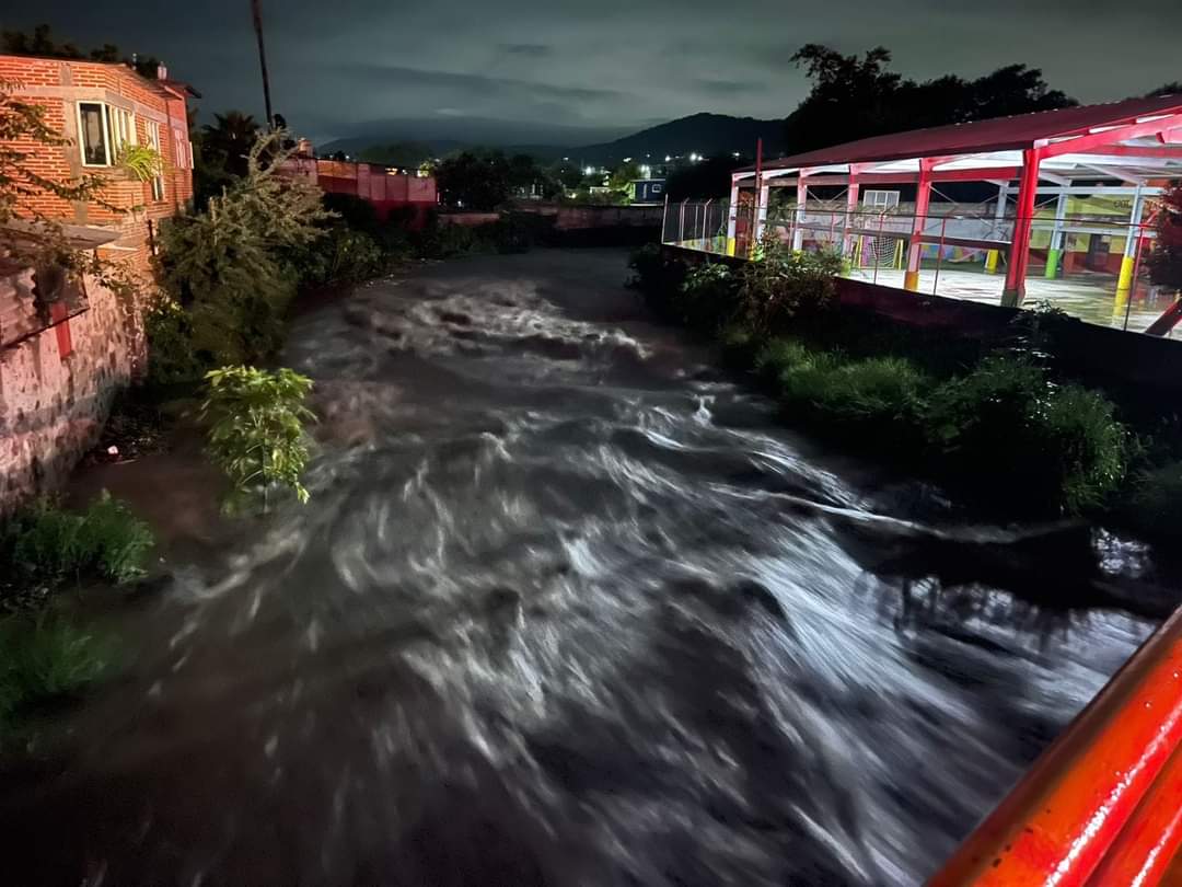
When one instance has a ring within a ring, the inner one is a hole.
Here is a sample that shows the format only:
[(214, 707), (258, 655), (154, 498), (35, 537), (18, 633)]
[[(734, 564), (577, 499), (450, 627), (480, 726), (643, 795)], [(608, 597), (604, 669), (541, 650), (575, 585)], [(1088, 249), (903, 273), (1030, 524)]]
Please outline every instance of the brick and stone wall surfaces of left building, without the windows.
[[(160, 127), (162, 200), (152, 199), (150, 183), (123, 170), (83, 167), (77, 144), (13, 143), (30, 155), (28, 166), (46, 177), (70, 181), (97, 173), (109, 179), (103, 196), (115, 205), (113, 211), (44, 194), (31, 196), (25, 207), (70, 224), (113, 228), (118, 239), (99, 254), (129, 265), (150, 285), (149, 229), (158, 229), (162, 219), (175, 215), (193, 198), (183, 98), (123, 65), (95, 61), (0, 56), (0, 79), (21, 101), (45, 108), (46, 122), (72, 141), (77, 141), (79, 101), (131, 105), (141, 144), (150, 144), (149, 119)], [(174, 129), (184, 136), (180, 151)], [(12, 286), (12, 279), (0, 278), (0, 296)], [(125, 304), (95, 280), (86, 281), (86, 290), (90, 307), (66, 321), (69, 326), (0, 349), (0, 510), (64, 479), (97, 441), (115, 393), (143, 364), (139, 306)], [(63, 352), (66, 343), (69, 354)]]

